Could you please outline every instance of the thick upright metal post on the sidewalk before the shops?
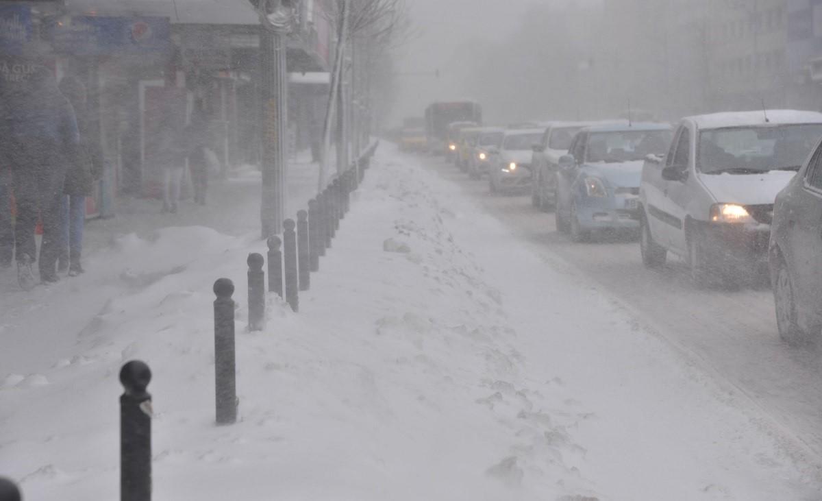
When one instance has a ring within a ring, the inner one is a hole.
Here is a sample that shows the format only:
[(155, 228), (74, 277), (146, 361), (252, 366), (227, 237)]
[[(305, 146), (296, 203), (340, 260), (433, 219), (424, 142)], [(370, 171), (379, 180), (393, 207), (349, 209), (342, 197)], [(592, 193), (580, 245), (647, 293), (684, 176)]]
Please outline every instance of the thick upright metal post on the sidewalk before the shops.
[(260, 98), (262, 109), (261, 236), (279, 234), (285, 216), (288, 73), (286, 37), (298, 0), (250, 0), (260, 15)]

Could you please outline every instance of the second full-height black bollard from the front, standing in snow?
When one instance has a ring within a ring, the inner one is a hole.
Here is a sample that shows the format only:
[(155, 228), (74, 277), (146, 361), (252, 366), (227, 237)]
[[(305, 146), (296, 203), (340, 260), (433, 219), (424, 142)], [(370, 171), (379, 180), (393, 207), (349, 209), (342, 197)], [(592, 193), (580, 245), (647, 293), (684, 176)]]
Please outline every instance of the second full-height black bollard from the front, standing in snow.
[(214, 283), (214, 367), (217, 424), (237, 421), (237, 387), (234, 370), (234, 284), (228, 278)]

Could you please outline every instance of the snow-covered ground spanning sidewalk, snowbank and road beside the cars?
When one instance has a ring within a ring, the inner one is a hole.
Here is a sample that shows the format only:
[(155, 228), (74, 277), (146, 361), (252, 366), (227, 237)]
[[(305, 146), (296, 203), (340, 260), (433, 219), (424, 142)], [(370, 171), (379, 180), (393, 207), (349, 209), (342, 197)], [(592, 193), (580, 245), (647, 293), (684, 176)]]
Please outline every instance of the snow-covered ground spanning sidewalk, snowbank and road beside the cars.
[(526, 197), (383, 144), (300, 313), (270, 297), (248, 333), (258, 179), (215, 193), (231, 209), (210, 226), (91, 225), (85, 276), (3, 292), (0, 471), (25, 499), (115, 498), (133, 359), (154, 373), (154, 499), (822, 498), (820, 364), (778, 342), (769, 290), (697, 292), (635, 242), (567, 244)]

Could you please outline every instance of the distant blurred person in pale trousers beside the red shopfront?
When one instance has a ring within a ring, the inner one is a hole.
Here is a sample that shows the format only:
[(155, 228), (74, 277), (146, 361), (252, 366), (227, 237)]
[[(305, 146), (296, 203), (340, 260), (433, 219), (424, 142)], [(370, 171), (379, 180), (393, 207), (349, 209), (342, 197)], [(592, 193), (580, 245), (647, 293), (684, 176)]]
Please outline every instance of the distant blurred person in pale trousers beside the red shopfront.
[(157, 161), (163, 169), (163, 212), (177, 212), (180, 183), (188, 155), (185, 130), (173, 107), (164, 109), (158, 128)]

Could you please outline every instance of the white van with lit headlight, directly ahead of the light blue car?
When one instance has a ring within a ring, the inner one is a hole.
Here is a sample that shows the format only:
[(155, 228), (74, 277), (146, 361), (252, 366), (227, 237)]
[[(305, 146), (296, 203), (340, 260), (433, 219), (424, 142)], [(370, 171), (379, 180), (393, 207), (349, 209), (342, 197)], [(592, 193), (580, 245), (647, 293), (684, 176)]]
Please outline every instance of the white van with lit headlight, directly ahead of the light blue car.
[(647, 267), (667, 252), (697, 285), (735, 283), (764, 268), (774, 199), (822, 137), (822, 114), (762, 110), (684, 118), (665, 158), (649, 156), (640, 186)]

